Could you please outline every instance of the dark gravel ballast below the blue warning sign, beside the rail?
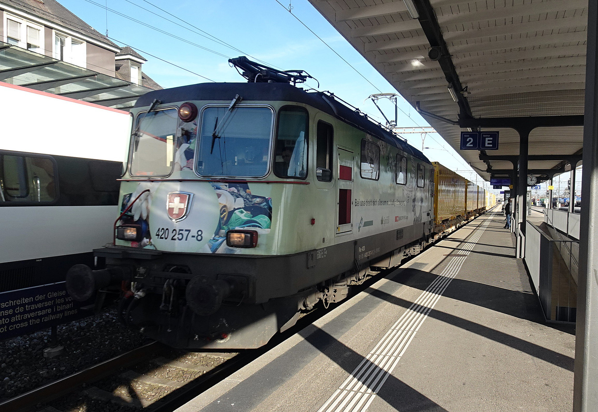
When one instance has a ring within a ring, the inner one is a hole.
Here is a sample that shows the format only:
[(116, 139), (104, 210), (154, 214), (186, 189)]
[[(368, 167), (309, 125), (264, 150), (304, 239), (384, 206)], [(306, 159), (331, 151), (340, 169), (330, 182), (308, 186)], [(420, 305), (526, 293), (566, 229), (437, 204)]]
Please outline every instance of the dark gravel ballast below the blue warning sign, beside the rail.
[(0, 342), (0, 402), (148, 343), (115, 309), (57, 327), (63, 355), (47, 359), (50, 329)]

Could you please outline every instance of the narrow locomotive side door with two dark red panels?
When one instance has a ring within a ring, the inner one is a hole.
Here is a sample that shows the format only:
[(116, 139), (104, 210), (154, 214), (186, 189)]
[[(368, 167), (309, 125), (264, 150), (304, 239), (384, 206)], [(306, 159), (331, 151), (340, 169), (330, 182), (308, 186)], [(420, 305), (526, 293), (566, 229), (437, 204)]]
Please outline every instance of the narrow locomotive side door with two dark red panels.
[(353, 152), (337, 147), (337, 225), (335, 235), (353, 232)]

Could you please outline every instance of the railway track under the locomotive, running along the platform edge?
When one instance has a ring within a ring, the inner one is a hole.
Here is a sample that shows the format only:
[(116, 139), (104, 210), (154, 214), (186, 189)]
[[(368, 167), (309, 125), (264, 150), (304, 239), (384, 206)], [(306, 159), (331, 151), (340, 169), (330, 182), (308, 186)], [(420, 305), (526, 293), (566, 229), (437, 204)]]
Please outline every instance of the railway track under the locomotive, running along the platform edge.
[[(405, 259), (402, 263), (407, 262)], [(353, 286), (356, 295), (394, 268)], [(171, 412), (331, 311), (319, 307), (260, 349), (186, 352), (153, 342), (0, 403), (2, 412)]]

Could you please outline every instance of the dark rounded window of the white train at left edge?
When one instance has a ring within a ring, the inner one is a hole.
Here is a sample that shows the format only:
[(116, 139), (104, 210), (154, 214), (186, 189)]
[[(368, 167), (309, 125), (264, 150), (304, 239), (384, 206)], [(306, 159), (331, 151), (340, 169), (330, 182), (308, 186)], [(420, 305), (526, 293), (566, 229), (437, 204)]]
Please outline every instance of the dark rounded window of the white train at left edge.
[(56, 166), (48, 157), (0, 155), (0, 164), (0, 203), (56, 199)]

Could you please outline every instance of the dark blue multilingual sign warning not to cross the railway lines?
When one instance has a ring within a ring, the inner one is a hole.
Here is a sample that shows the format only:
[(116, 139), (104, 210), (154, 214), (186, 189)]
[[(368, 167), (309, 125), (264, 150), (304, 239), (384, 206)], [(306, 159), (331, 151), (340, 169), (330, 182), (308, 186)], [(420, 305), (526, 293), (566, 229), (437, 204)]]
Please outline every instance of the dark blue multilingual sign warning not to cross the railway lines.
[(90, 316), (66, 292), (65, 282), (0, 293), (0, 341)]

